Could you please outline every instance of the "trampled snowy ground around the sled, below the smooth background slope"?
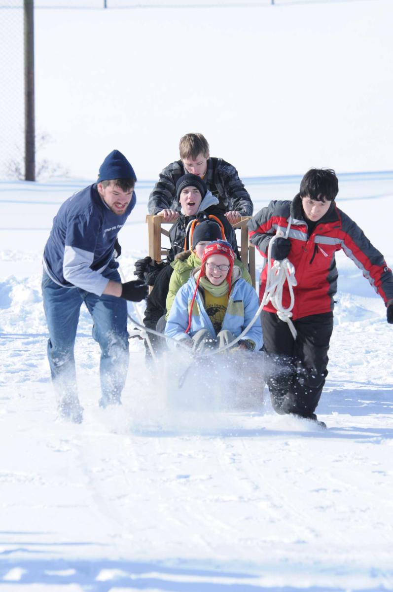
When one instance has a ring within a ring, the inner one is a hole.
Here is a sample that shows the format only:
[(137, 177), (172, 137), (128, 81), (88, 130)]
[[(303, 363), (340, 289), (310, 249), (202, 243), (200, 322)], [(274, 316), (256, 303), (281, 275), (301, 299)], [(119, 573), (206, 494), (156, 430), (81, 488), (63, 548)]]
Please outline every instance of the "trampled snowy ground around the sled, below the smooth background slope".
[[(392, 180), (340, 175), (337, 198), (390, 266)], [(274, 414), (266, 391), (242, 406), (247, 382), (225, 397), (215, 381), (207, 398), (186, 380), (179, 401), (176, 361), (150, 374), (137, 339), (123, 407), (102, 410), (86, 310), (76, 343), (85, 421), (56, 419), (41, 253), (59, 204), (88, 182), (0, 184), (0, 590), (392, 590), (392, 327), (345, 256), (317, 410), (327, 430)], [(245, 182), (257, 210), (291, 198), (299, 178)], [(119, 235), (130, 279), (147, 250), (151, 188), (137, 184)]]

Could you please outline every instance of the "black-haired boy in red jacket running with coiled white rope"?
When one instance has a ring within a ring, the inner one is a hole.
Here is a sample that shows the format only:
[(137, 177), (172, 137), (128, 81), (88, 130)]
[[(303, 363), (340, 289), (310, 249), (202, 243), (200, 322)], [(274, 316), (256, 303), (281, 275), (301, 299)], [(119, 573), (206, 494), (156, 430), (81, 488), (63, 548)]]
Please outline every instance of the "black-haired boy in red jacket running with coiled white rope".
[[(271, 201), (249, 221), (250, 241), (263, 257), (278, 229), (290, 226), (288, 238), (272, 244), (272, 259), (288, 258), (295, 266), (297, 286), (292, 321), (281, 321), (271, 303), (262, 311), (266, 382), (277, 413), (291, 413), (318, 422), (314, 411), (327, 376), (327, 352), (333, 331), (333, 297), (337, 291), (334, 254), (344, 253), (362, 270), (387, 307), (393, 323), (393, 276), (384, 257), (363, 231), (337, 208), (339, 183), (334, 170), (311, 169), (302, 178), (299, 194), (292, 201)], [(266, 284), (266, 266), (261, 276), (260, 298)], [(284, 287), (283, 305), (289, 305)]]

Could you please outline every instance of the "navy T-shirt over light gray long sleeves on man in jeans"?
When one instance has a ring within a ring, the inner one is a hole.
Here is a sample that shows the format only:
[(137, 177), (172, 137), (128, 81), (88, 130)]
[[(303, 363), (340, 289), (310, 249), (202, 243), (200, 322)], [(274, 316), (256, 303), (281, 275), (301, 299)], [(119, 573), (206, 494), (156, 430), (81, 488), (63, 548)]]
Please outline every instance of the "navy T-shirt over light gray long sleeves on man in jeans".
[(113, 257), (118, 231), (136, 204), (133, 192), (122, 215), (114, 214), (89, 185), (68, 198), (53, 219), (44, 249), (44, 269), (56, 284), (101, 296), (108, 278), (101, 275)]

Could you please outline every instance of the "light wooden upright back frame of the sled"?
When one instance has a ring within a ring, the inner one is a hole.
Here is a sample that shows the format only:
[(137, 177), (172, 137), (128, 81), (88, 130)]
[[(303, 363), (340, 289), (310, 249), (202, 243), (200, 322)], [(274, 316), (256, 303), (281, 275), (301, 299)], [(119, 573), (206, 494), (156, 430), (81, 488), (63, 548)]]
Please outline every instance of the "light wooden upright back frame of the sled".
[[(249, 231), (247, 228), (247, 221), (249, 220), (250, 216), (242, 216), (240, 221), (232, 224), (232, 226), (235, 230), (240, 230), (240, 259), (247, 265), (253, 287), (255, 288), (255, 247), (249, 241)], [(163, 249), (162, 247), (162, 236), (169, 238), (169, 232), (163, 228), (163, 224), (170, 224), (172, 226), (172, 222), (163, 222), (162, 216), (150, 214), (146, 216), (146, 222), (149, 233), (149, 256), (156, 261), (161, 261), (162, 256), (167, 255), (168, 252), (168, 249)]]

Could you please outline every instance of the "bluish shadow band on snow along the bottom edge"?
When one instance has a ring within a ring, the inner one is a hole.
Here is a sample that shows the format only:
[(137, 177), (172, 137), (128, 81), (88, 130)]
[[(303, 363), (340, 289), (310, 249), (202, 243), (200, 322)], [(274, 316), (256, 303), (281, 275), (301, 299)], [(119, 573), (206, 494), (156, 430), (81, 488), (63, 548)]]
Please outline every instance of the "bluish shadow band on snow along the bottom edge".
[[(1, 535), (1, 532), (0, 532)], [(72, 543), (71, 543), (72, 544)], [(75, 543), (79, 545), (80, 543)], [(87, 543), (88, 544), (88, 543)], [(92, 543), (93, 544), (93, 543)], [(44, 545), (43, 545), (44, 546)], [(50, 546), (50, 545), (45, 545)], [(36, 551), (34, 551), (36, 552)], [(95, 561), (72, 559), (14, 560), (3, 562), (0, 567), (0, 585), (7, 583), (8, 587), (21, 585), (64, 585), (78, 584), (91, 592), (109, 592), (114, 588), (132, 588), (146, 590), (147, 588), (162, 592), (246, 592), (249, 590), (264, 590), (265, 592), (324, 592), (326, 587), (311, 585), (299, 588), (298, 585), (271, 587), (260, 586), (256, 581), (263, 576), (282, 573), (282, 566), (247, 564), (239, 566), (239, 570), (231, 564), (229, 567), (215, 565), (207, 568), (211, 560), (173, 560), (172, 563), (182, 562), (182, 567), (170, 567), (164, 561), (112, 561), (98, 559)], [(169, 562), (166, 562), (169, 563)], [(338, 574), (342, 566), (326, 566), (331, 575)], [(312, 568), (311, 568), (312, 569)], [(310, 575), (310, 567), (290, 566), (285, 568), (288, 578), (295, 581), (297, 577)], [(317, 573), (315, 574), (318, 575)], [(222, 580), (222, 581), (220, 581)], [(346, 587), (330, 587), (330, 592), (342, 592)], [(381, 586), (359, 589), (358, 592), (379, 592)]]

